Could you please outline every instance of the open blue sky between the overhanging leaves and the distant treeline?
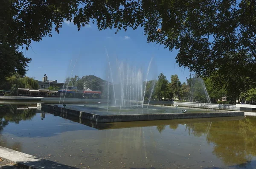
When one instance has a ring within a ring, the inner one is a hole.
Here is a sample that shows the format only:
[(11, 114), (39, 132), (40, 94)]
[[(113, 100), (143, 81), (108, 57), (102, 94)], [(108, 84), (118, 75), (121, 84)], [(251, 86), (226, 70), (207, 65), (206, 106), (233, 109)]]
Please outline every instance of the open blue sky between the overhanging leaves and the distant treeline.
[(99, 31), (93, 24), (77, 31), (76, 25), (65, 22), (59, 34), (53, 31), (52, 37), (32, 42), (29, 51), (23, 49), (23, 54), (32, 58), (26, 75), (42, 80), (43, 75), (47, 74), (48, 80), (57, 79), (58, 82), (70, 75), (95, 75), (107, 79), (106, 47), (111, 63), (118, 59), (144, 70), (151, 56), (154, 56), (148, 79), (163, 72), (169, 81), (172, 74), (177, 74), (181, 82), (186, 81), (189, 70), (175, 64), (177, 51), (147, 43), (143, 28), (135, 31), (128, 29), (127, 32), (121, 30), (117, 34), (115, 31)]

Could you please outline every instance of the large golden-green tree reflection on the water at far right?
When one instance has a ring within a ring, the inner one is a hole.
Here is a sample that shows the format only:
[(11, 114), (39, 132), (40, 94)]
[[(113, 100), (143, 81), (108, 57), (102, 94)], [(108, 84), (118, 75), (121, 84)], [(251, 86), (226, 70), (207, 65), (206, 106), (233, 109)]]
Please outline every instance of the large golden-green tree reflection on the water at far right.
[(189, 134), (207, 135), (213, 153), (227, 165), (246, 164), (256, 156), (256, 118), (187, 124)]

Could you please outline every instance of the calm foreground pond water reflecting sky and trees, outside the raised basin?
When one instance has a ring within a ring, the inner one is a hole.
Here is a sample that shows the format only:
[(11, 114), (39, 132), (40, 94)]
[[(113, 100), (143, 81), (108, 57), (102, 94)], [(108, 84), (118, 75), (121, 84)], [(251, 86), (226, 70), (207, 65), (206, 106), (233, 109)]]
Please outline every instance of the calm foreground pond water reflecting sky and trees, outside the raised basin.
[(0, 146), (78, 168), (256, 168), (255, 117), (108, 124), (67, 118), (3, 105)]

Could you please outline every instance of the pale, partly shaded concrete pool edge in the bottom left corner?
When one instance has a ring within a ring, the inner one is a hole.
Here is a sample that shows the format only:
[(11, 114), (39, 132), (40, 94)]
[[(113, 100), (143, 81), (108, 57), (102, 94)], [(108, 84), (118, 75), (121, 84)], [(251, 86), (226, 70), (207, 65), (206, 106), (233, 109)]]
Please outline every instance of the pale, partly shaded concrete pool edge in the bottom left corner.
[(14, 163), (19, 167), (24, 167), (26, 169), (77, 169), (76, 167), (67, 166), (61, 163), (56, 163), (54, 161), (38, 158), (33, 155), (18, 152), (3, 146), (0, 146), (0, 158), (10, 163)]

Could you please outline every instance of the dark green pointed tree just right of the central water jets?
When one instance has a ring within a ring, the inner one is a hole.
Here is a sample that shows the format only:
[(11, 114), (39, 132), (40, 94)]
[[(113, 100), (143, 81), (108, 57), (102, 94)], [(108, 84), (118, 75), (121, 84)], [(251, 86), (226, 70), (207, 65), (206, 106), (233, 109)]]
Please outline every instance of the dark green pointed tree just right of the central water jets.
[(158, 75), (158, 81), (156, 86), (156, 95), (159, 100), (162, 98), (167, 98), (169, 96), (169, 85), (166, 76), (164, 76), (163, 72)]

